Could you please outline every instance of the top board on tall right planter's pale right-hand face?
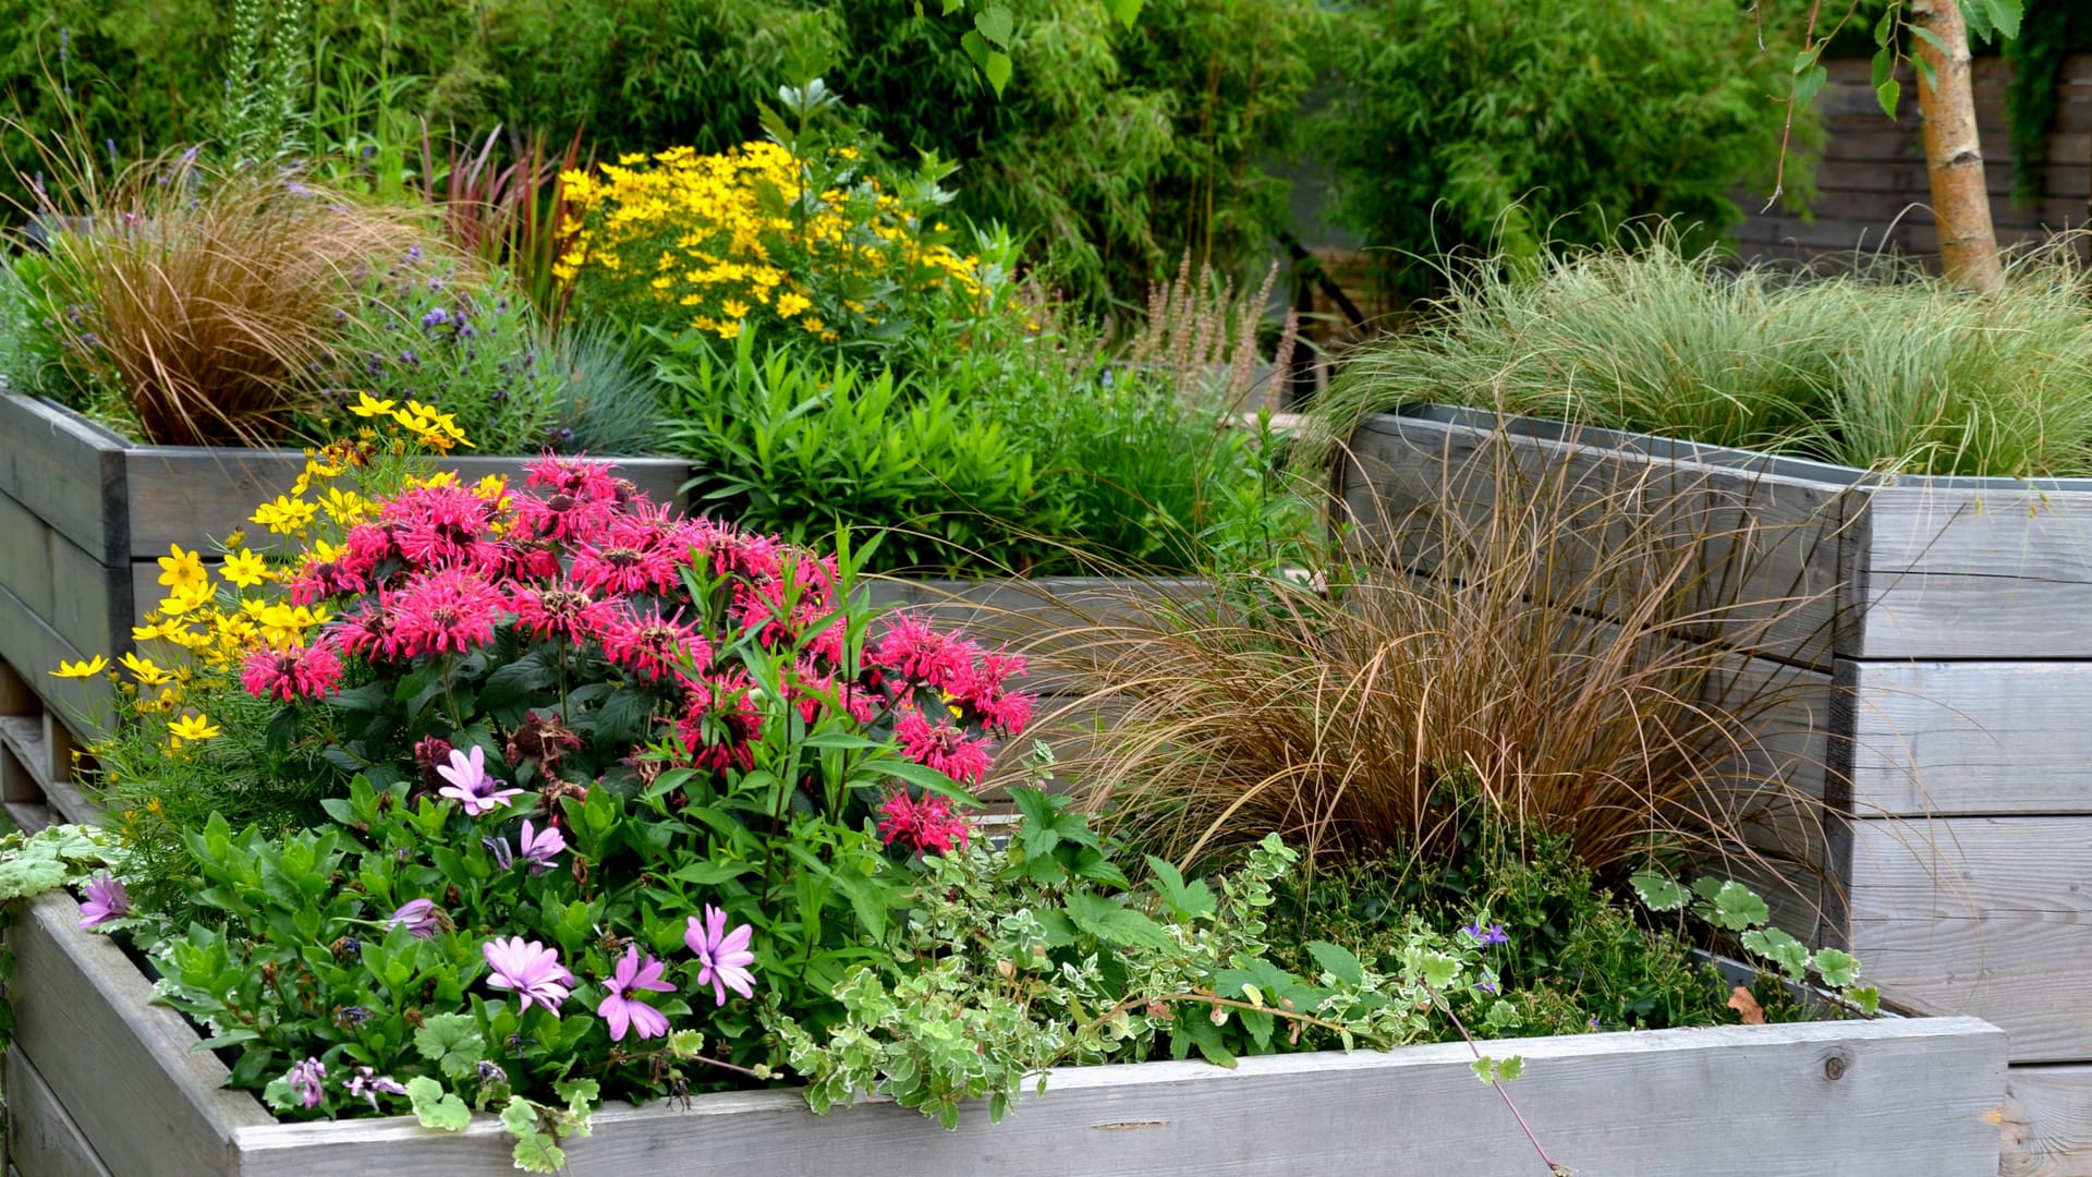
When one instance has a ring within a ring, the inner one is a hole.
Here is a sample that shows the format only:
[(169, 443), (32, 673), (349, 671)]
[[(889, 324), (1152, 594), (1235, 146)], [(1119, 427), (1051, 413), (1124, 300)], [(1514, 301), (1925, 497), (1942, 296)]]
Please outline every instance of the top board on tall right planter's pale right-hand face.
[[(2092, 486), (2092, 484), (2086, 484)], [(1885, 486), (1839, 656), (2092, 658), (2092, 490)]]

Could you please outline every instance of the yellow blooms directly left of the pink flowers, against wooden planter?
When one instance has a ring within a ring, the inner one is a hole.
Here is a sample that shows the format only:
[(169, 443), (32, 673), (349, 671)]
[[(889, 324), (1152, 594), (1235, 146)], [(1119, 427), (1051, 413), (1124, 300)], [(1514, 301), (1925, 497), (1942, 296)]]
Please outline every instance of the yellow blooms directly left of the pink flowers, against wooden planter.
[[(126, 653), (117, 660), (130, 676), (111, 670), (107, 656), (96, 653), (79, 662), (61, 662), (52, 670), (59, 679), (96, 679), (107, 674), (130, 710), (140, 716), (165, 718), (167, 752), (178, 752), (184, 743), (197, 743), (224, 735), (207, 714), (188, 708), (186, 695), (199, 668), (213, 676), (238, 674), (241, 664), (255, 649), (301, 647), (308, 635), (331, 620), (324, 605), (308, 607), (291, 603), (270, 584), (285, 584), (312, 563), (337, 559), (341, 549), (328, 536), (339, 538), (356, 524), (377, 515), (379, 507), (354, 488), (328, 486), (343, 473), (368, 467), (379, 452), (406, 454), (420, 446), (433, 454), (446, 454), (454, 446), (469, 446), (464, 434), (448, 413), (435, 413), (420, 402), (395, 408), (389, 400), (372, 400), (368, 394), (349, 408), (358, 417), (381, 419), (395, 431), (393, 438), (379, 438), (374, 429), (362, 429), (354, 438), (331, 442), (320, 450), (305, 450), (305, 469), (291, 484), (289, 494), (255, 507), (253, 524), (272, 534), (287, 536), (299, 551), (289, 561), (272, 561), (262, 551), (247, 545), (243, 532), (226, 536), (218, 578), (228, 586), (220, 588), (211, 580), (211, 570), (203, 563), (201, 551), (169, 545), (159, 557), (159, 584), (167, 588), (159, 607), (144, 614), (144, 624), (132, 628), (132, 641), (165, 643), (174, 656), (167, 666), (140, 653)], [(454, 482), (454, 473), (429, 478), (408, 478), (414, 484)], [(322, 492), (324, 490), (324, 492)], [(483, 480), (475, 492), (500, 496), (506, 484), (500, 475)], [(314, 494), (316, 498), (308, 498)], [(322, 524), (324, 519), (324, 524)]]

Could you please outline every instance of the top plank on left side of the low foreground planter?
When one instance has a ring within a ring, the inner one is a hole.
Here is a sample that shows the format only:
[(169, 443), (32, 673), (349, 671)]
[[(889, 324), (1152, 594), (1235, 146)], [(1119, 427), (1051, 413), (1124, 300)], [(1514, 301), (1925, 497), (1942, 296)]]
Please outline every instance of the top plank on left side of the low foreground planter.
[(226, 1068), (190, 1049), (180, 1014), (107, 936), (77, 932), (79, 905), (42, 894), (10, 911), (15, 1041), (117, 1177), (228, 1173), (232, 1131), (274, 1118)]

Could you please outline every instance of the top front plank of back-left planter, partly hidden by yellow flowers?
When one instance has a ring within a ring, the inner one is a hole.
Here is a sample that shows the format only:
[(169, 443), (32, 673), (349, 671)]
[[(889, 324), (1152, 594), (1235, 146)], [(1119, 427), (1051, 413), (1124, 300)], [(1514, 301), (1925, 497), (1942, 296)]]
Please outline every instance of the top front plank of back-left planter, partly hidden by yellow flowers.
[[(500, 473), (521, 484), (523, 457), (460, 457), (433, 463), (477, 482)], [(607, 459), (657, 503), (684, 505), (682, 484), (690, 463), (676, 459)], [(130, 478), (130, 551), (138, 559), (167, 553), (167, 545), (195, 549), (205, 538), (253, 530), (257, 503), (289, 494), (305, 469), (295, 450), (236, 450), (205, 446), (136, 446), (123, 452)]]

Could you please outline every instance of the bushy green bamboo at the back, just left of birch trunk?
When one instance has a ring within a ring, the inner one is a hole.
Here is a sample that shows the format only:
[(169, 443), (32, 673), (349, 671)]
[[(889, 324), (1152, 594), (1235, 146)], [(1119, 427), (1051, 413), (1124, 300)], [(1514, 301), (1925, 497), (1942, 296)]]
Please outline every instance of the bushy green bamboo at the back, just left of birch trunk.
[(1770, 186), (1780, 151), (1766, 94), (1789, 63), (1728, 4), (1395, 0), (1345, 6), (1328, 44), (1343, 84), (1316, 142), (1337, 216), (1377, 247), (1521, 260), (1646, 214), (1705, 241), (1741, 218), (1738, 180)]

